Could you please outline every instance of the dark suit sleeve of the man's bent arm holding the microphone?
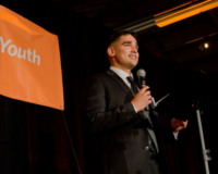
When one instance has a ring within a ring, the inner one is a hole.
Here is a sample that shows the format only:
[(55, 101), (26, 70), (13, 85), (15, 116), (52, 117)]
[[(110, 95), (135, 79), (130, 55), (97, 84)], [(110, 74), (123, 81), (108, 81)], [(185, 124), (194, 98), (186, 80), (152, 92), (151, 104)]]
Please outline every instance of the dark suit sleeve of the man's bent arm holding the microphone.
[[(114, 95), (116, 98), (116, 95)], [(131, 102), (107, 110), (107, 92), (97, 77), (92, 76), (82, 95), (85, 132), (110, 132), (140, 121)]]

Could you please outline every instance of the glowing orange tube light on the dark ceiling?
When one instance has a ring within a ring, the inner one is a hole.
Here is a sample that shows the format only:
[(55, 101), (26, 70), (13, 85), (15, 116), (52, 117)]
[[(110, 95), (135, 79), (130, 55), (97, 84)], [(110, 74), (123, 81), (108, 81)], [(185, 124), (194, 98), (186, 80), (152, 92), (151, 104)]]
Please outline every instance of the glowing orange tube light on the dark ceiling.
[(207, 0), (204, 1), (202, 3), (192, 5), (190, 8), (183, 9), (179, 12), (175, 12), (173, 14), (170, 14), (168, 16), (165, 16), (162, 18), (158, 18), (156, 20), (156, 25), (159, 27), (164, 27), (166, 25), (175, 23), (178, 21), (191, 17), (193, 15), (196, 15), (201, 12), (205, 12), (208, 11), (210, 9), (217, 8), (218, 7), (218, 0), (211, 1), (211, 0)]

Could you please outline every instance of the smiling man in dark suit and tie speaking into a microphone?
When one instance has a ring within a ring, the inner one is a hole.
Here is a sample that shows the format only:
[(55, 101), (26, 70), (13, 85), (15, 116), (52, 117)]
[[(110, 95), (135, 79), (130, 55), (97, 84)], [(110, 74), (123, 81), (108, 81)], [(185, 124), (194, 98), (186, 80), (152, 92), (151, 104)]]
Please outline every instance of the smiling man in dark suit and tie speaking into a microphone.
[(87, 173), (166, 173), (162, 144), (174, 140), (173, 133), (186, 127), (187, 121), (177, 119), (160, 126), (157, 114), (145, 110), (152, 103), (149, 87), (134, 91), (128, 79), (138, 62), (137, 50), (134, 33), (112, 35), (107, 49), (110, 70), (89, 77), (85, 85), (84, 129), (95, 139), (86, 148), (92, 159)]

